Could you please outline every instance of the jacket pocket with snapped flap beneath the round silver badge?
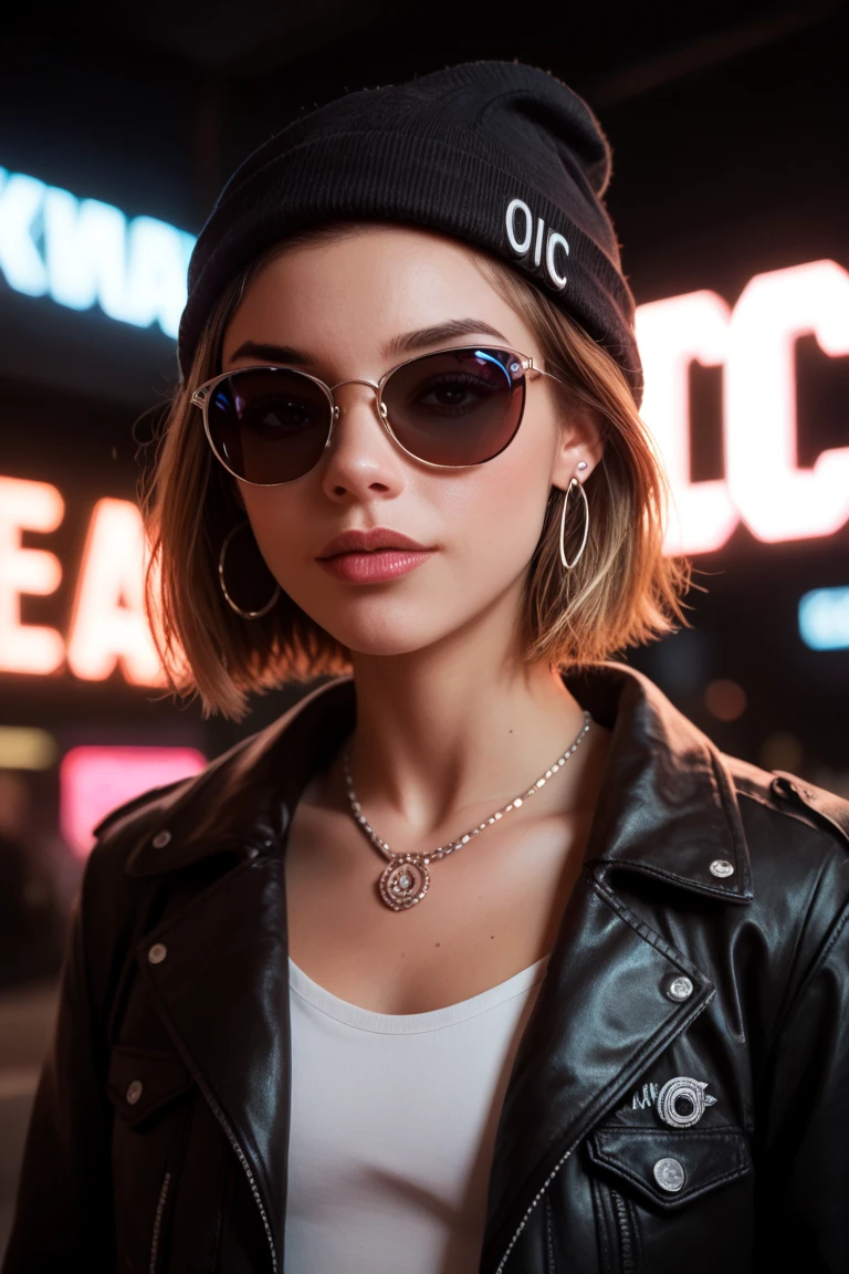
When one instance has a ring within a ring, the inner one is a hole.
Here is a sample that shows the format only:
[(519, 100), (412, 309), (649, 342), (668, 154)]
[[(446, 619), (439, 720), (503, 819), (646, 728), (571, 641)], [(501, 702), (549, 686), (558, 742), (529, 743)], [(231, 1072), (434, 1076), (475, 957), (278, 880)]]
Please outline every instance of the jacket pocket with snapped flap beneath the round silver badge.
[(611, 1125), (588, 1136), (587, 1153), (605, 1271), (750, 1269), (752, 1159), (740, 1129)]

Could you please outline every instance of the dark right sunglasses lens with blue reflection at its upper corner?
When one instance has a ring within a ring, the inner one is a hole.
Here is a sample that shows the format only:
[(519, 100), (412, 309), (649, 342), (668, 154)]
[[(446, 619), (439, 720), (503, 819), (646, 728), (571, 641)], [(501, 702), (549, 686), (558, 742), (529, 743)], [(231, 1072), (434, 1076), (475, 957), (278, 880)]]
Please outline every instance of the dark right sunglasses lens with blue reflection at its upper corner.
[(405, 363), (383, 387), (396, 438), (419, 460), (477, 465), (503, 451), (524, 406), (524, 371), (503, 349), (451, 349)]

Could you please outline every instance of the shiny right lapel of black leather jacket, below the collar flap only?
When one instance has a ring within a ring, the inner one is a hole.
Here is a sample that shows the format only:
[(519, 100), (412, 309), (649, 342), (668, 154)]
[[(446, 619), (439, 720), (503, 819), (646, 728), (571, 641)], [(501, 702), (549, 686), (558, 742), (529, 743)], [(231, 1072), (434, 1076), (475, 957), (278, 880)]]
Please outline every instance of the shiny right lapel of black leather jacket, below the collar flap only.
[[(481, 1270), (494, 1271), (563, 1156), (615, 1106), (714, 986), (584, 870), (513, 1064), (490, 1175)], [(694, 994), (664, 994), (678, 973)]]

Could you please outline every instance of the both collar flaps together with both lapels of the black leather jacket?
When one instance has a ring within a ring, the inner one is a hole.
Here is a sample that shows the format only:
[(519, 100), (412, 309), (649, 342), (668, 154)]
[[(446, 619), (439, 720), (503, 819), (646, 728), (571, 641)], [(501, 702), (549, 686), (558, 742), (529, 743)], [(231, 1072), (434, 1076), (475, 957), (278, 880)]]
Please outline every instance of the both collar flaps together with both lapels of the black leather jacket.
[[(549, 1175), (715, 995), (712, 978), (670, 945), (657, 921), (635, 915), (617, 893), (621, 874), (633, 884), (636, 873), (644, 885), (649, 877), (667, 894), (671, 887), (685, 906), (692, 894), (718, 903), (752, 899), (734, 787), (710, 740), (647, 676), (621, 664), (597, 664), (564, 680), (612, 740), (587, 870), (564, 912), (504, 1099), (485, 1274), (502, 1268)], [(201, 775), (146, 794), (97, 828), (115, 824), (126, 834), (130, 877), (160, 874), (164, 883), (165, 873), (225, 848), (243, 859), (150, 930), (136, 962), (177, 1050), (249, 1168), (272, 1256), (283, 1251), (290, 1101), (277, 851), (309, 776), (354, 720), (353, 679), (337, 678)], [(712, 874), (717, 859), (733, 873)], [(153, 943), (167, 944), (162, 964), (146, 958)], [(681, 973), (694, 992), (676, 1003), (666, 987)], [(272, 1265), (279, 1269), (277, 1256)]]

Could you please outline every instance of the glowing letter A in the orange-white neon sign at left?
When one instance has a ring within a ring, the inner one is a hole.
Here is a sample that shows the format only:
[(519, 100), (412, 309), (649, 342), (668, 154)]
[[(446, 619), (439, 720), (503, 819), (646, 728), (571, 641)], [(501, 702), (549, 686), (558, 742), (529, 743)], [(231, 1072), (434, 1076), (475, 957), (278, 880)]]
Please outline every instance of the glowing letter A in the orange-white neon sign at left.
[(99, 499), (83, 553), (67, 662), (101, 682), (118, 660), (129, 682), (159, 685), (162, 668), (144, 612), (145, 544), (141, 515), (126, 499)]

